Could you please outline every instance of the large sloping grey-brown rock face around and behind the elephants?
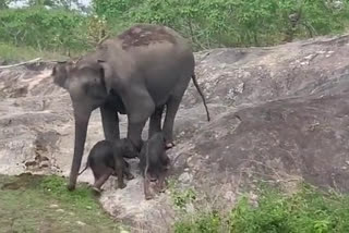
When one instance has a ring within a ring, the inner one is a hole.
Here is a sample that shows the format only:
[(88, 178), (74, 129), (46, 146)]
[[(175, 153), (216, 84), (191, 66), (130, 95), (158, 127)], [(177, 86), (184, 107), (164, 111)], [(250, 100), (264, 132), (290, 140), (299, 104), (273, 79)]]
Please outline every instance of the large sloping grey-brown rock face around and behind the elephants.
[[(257, 180), (304, 179), (348, 192), (348, 54), (349, 36), (196, 53), (212, 121), (190, 84), (176, 119), (177, 146), (168, 150), (172, 179), (227, 207), (240, 188)], [(0, 172), (69, 175), (74, 137), (70, 97), (52, 84), (49, 68), (31, 69), (0, 70)], [(125, 136), (124, 116), (120, 124)], [(85, 155), (99, 139), (96, 111)], [(136, 163), (132, 161), (136, 179), (124, 189), (116, 189), (110, 179), (100, 201), (135, 232), (167, 232), (176, 218), (170, 195), (144, 200)], [(92, 172), (79, 180), (93, 182)]]

